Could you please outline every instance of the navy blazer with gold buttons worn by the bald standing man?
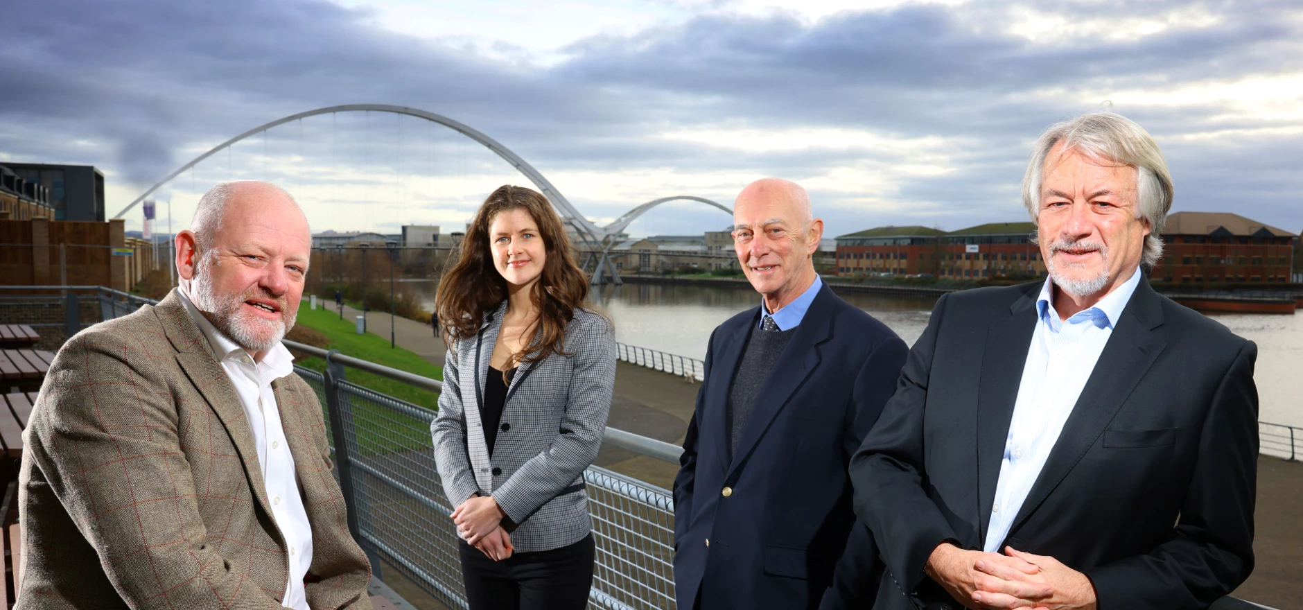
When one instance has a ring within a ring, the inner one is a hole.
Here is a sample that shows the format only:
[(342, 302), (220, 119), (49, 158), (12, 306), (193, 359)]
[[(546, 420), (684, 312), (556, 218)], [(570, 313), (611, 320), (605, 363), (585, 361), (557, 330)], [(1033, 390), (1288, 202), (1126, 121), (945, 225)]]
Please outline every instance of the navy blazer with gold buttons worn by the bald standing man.
[(873, 598), (881, 563), (851, 511), (846, 468), (891, 396), (907, 347), (825, 285), (730, 459), (726, 405), (758, 323), (756, 308), (710, 336), (674, 481), (679, 607), (692, 609), (698, 588), (706, 610), (857, 607)]

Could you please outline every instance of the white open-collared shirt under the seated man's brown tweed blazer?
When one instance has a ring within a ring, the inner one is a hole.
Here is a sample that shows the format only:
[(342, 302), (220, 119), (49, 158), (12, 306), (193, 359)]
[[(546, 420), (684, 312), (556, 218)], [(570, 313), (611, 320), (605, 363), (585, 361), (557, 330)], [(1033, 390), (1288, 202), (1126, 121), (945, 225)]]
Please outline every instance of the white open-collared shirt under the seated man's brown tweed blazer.
[(212, 345), (222, 369), (227, 371), (231, 383), (240, 395), (245, 420), (253, 430), (253, 442), (258, 448), (258, 465), (262, 467), (262, 480), (271, 501), (271, 517), (285, 540), (285, 553), (289, 560), (289, 581), (285, 584), (284, 607), (309, 610), (304, 593), (304, 575), (313, 563), (313, 529), (308, 523), (308, 511), (298, 493), (298, 478), (294, 474), (294, 456), (285, 443), (285, 429), (280, 425), (280, 411), (271, 382), (294, 371), (294, 357), (285, 345), (267, 351), (261, 362), (254, 362), (238, 344), (222, 334), (208, 318), (205, 318), (184, 289), (179, 289), (181, 304), (186, 313), (199, 326), (203, 336)]

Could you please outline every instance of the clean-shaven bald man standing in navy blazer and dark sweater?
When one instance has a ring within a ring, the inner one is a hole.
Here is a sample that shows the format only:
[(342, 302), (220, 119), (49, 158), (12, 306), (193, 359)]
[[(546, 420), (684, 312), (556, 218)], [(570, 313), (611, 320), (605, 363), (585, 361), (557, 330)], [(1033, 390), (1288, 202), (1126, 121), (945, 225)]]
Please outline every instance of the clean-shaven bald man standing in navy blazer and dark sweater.
[(706, 351), (674, 481), (679, 607), (868, 607), (882, 566), (847, 464), (907, 347), (814, 272), (823, 222), (800, 185), (748, 185), (732, 236), (761, 302)]

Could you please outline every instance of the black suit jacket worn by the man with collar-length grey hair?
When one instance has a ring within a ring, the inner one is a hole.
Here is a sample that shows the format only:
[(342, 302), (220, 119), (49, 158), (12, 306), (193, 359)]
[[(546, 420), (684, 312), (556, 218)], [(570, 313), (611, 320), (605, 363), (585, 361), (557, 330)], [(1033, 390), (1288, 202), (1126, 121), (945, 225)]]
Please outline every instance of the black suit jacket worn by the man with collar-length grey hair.
[[(942, 297), (855, 454), (855, 511), (889, 571), (876, 609), (959, 607), (923, 567), (945, 540), (984, 547), (1040, 288)], [(1104, 610), (1208, 607), (1244, 581), (1256, 353), (1141, 280), (1001, 549), (1084, 572)]]

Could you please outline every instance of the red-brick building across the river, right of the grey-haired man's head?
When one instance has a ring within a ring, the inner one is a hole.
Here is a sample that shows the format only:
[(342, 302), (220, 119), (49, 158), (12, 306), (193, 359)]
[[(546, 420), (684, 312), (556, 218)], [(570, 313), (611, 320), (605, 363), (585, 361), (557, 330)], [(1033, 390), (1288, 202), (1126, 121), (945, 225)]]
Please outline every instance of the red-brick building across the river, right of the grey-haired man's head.
[(1151, 276), (1173, 284), (1285, 283), (1294, 233), (1229, 212), (1177, 212), (1164, 227), (1162, 261)]

